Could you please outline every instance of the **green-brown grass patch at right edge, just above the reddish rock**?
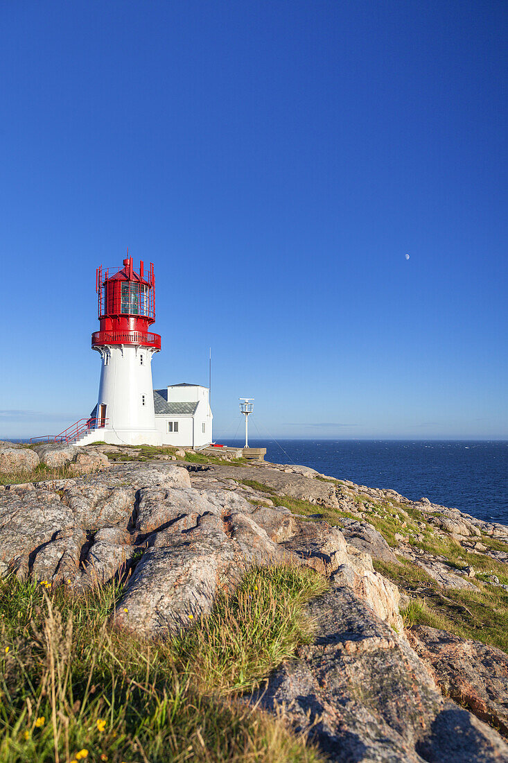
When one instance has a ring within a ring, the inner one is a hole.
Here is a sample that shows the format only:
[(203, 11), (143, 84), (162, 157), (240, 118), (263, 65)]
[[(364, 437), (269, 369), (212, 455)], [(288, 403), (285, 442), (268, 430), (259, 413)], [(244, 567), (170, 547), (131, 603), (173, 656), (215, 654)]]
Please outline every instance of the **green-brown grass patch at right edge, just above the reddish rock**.
[(423, 568), (398, 559), (400, 564), (373, 563), (378, 572), (415, 597), (402, 611), (408, 626), (429, 625), (508, 652), (507, 591), (482, 583), (474, 590), (442, 588)]

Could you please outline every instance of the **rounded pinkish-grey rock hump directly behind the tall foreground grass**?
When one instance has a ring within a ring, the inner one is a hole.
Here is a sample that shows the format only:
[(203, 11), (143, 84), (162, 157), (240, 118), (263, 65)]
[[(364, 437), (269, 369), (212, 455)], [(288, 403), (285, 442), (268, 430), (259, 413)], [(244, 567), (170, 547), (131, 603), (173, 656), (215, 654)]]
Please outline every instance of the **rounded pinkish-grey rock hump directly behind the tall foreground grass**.
[[(286, 556), (251, 517), (230, 513), (227, 494), (220, 513), (200, 514), (199, 494), (193, 501), (191, 489), (172, 492), (180, 493), (178, 511), (150, 535), (116, 613), (118, 626), (150, 638), (187, 628), (208, 613), (217, 591), (231, 589), (249, 565), (284, 562)], [(186, 513), (182, 493), (190, 499)]]

